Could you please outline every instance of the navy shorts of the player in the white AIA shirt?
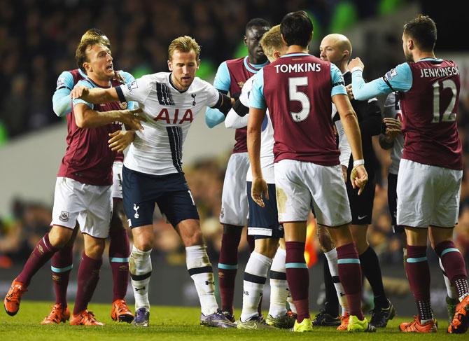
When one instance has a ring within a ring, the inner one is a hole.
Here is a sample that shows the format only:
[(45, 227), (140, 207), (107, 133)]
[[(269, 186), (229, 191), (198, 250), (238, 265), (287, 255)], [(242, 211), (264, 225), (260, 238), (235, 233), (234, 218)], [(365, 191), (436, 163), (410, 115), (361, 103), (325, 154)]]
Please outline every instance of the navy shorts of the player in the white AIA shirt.
[(155, 204), (174, 228), (186, 219), (199, 219), (183, 173), (153, 175), (124, 166), (123, 201), (130, 228), (152, 225)]

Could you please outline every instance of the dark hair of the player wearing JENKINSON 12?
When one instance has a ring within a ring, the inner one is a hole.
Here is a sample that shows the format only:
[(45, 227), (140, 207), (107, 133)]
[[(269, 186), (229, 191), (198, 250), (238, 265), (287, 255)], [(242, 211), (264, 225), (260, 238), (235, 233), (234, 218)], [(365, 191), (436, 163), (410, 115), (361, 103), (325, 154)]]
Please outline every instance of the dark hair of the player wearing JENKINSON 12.
[(433, 51), (436, 43), (436, 25), (428, 15), (419, 14), (404, 25), (404, 34), (414, 40), (423, 51)]

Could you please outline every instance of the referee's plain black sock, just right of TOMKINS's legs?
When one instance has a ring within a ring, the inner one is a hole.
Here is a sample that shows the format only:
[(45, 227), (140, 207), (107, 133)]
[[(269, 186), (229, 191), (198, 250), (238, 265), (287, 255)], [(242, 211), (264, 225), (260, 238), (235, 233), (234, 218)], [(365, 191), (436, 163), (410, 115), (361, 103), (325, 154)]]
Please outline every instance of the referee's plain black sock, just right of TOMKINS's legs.
[(360, 254), (360, 265), (363, 274), (372, 288), (374, 307), (388, 307), (388, 298), (386, 298), (386, 293), (384, 293), (383, 277), (381, 276), (378, 256), (371, 246)]

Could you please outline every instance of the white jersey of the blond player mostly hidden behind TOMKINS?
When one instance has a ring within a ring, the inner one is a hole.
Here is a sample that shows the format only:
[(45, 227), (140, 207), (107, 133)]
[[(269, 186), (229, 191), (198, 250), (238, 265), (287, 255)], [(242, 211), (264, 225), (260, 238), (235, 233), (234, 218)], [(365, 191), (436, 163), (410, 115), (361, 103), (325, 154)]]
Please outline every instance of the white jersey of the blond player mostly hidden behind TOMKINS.
[[(253, 87), (253, 77), (249, 78), (244, 83), (241, 89), (241, 95), (239, 95), (239, 101), (244, 106), (249, 106), (249, 94)], [(230, 122), (233, 118), (232, 126), (234, 128), (246, 127), (248, 124), (247, 114), (244, 117), (239, 117), (235, 110), (231, 109), (226, 117), (226, 121)], [(228, 123), (230, 124), (230, 123)], [(225, 124), (226, 125), (226, 124)], [(226, 125), (227, 127), (230, 127)], [(270, 120), (269, 110), (265, 112), (265, 118), (262, 122), (262, 130), (260, 132), (260, 167), (262, 168), (262, 176), (264, 176), (265, 182), (275, 183), (274, 176), (274, 127), (272, 127), (272, 121)], [(246, 174), (246, 181), (253, 181), (253, 174), (251, 172), (251, 165), (249, 166), (248, 173)]]

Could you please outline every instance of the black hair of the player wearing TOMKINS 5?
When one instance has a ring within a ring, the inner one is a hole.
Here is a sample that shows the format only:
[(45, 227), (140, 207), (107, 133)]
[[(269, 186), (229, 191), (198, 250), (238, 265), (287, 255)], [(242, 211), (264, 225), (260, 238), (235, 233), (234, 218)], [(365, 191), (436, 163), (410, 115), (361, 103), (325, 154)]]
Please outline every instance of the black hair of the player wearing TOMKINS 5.
[(304, 11), (290, 12), (280, 23), (280, 32), (287, 46), (307, 47), (313, 36), (313, 22)]

